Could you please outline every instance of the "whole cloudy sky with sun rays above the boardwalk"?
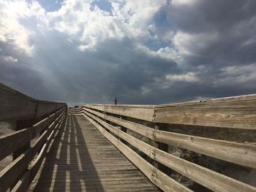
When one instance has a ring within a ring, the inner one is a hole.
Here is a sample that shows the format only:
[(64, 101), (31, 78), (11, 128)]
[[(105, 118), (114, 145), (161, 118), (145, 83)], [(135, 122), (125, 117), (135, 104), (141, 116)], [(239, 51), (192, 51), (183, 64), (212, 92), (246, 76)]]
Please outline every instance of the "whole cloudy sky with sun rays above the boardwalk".
[(0, 82), (36, 99), (256, 93), (255, 0), (0, 1)]

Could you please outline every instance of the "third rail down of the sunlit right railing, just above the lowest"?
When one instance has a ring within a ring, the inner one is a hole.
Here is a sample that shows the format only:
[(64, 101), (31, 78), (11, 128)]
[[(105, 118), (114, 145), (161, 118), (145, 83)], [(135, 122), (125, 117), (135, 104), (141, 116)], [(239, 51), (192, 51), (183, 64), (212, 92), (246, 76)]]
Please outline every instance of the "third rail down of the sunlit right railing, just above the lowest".
[(232, 178), (214, 172), (211, 169), (206, 169), (203, 166), (185, 161), (182, 158), (178, 158), (175, 155), (171, 155), (170, 153), (166, 153), (157, 149), (156, 147), (148, 145), (145, 142), (142, 142), (139, 139), (120, 131), (118, 128), (111, 126), (104, 120), (91, 115), (89, 112), (86, 112), (86, 115), (94, 120), (97, 120), (97, 122), (101, 123), (102, 126), (105, 126), (105, 128), (108, 128), (108, 130), (113, 132), (113, 134), (116, 134), (118, 137), (126, 140), (130, 145), (137, 147), (138, 150), (142, 151), (152, 159), (176, 170), (176, 172), (179, 172), (185, 177), (200, 183), (212, 191), (256, 191), (256, 188), (251, 185), (241, 183), (238, 180), (233, 180)]

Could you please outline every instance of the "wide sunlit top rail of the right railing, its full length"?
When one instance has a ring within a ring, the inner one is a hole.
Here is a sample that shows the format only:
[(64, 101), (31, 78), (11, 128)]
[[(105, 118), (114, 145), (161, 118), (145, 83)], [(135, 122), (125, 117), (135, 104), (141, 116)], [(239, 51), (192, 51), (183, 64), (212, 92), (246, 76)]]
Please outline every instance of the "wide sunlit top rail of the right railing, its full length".
[(256, 94), (177, 104), (84, 104), (83, 107), (154, 123), (256, 129)]

